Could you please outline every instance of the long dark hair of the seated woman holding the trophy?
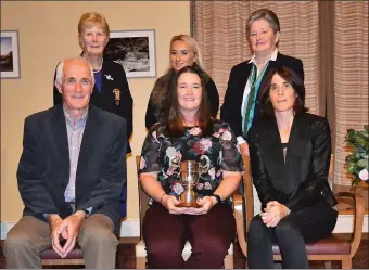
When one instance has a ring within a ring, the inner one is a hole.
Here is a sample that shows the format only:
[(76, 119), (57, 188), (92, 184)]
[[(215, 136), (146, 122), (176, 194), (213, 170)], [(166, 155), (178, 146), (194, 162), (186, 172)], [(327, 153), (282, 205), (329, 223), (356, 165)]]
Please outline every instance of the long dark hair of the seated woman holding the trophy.
[(202, 95), (199, 111), (195, 117), (199, 121), (199, 127), (205, 131), (211, 123), (211, 104), (205, 89), (208, 76), (198, 65), (186, 66), (178, 70), (169, 85), (167, 98), (164, 107), (164, 123), (166, 125), (167, 134), (170, 137), (180, 137), (186, 130), (183, 125), (183, 115), (180, 112), (180, 105), (178, 102), (177, 85), (178, 78), (184, 73), (196, 74), (201, 80)]

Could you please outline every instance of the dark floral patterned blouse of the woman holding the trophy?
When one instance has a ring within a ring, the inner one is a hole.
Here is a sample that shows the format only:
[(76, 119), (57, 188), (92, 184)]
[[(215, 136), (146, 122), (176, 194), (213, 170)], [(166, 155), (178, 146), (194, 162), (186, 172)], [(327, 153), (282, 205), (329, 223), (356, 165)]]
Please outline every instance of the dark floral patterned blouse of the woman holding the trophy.
[(213, 194), (222, 180), (221, 172), (243, 171), (243, 164), (229, 125), (216, 119), (209, 125), (212, 136), (202, 136), (200, 127), (189, 127), (179, 138), (167, 137), (163, 124), (154, 125), (143, 142), (139, 173), (157, 171), (164, 191), (179, 197), (184, 189), (179, 180), (180, 169), (175, 165), (181, 160), (205, 160), (208, 170), (201, 175), (194, 191), (199, 197)]

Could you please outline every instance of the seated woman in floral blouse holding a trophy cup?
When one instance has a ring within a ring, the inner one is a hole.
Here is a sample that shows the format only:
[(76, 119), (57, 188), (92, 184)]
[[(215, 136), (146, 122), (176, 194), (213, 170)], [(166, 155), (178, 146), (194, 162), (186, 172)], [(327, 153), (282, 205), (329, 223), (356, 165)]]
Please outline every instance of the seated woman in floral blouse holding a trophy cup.
[[(234, 239), (230, 196), (239, 188), (242, 159), (229, 125), (211, 117), (204, 73), (180, 69), (169, 89), (165, 123), (143, 143), (139, 178), (151, 197), (142, 224), (149, 268), (221, 268)], [(174, 162), (175, 160), (175, 162)], [(206, 160), (194, 191), (200, 207), (180, 207), (183, 192), (175, 164)], [(181, 253), (190, 241), (192, 254)]]

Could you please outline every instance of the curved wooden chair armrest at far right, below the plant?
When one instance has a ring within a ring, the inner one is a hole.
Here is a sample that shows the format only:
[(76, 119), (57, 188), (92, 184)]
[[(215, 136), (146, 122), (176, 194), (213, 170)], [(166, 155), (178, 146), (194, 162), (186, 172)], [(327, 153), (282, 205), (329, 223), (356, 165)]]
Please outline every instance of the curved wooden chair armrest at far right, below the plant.
[(362, 223), (364, 223), (364, 211), (365, 211), (365, 203), (364, 198), (352, 192), (336, 192), (334, 196), (340, 201), (343, 197), (351, 197), (353, 200), (354, 206), (354, 235), (351, 240), (351, 257), (354, 257), (357, 249), (359, 248), (362, 233)]

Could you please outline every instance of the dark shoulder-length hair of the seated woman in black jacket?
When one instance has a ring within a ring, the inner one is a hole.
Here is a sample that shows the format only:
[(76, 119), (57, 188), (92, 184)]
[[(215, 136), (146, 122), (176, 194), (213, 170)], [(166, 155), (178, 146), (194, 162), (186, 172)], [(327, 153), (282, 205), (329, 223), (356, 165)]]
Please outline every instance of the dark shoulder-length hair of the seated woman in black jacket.
[(305, 106), (305, 85), (302, 78), (292, 69), (281, 66), (275, 69), (271, 69), (262, 87), (260, 87), (260, 116), (275, 116), (275, 108), (271, 105), (271, 102), (269, 100), (269, 92), (270, 92), (270, 86), (272, 77), (278, 74), (281, 76), (287, 82), (289, 82), (293, 90), (295, 91), (295, 102), (293, 104), (293, 112), (294, 114), (305, 113), (308, 111), (308, 108)]

